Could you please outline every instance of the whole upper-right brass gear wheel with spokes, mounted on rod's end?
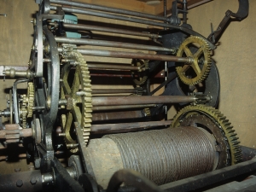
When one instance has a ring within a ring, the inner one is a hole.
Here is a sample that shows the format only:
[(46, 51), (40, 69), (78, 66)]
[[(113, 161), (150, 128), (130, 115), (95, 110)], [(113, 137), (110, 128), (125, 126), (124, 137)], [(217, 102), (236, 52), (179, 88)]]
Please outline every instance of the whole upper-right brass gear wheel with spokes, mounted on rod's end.
[(207, 41), (200, 37), (186, 38), (177, 50), (178, 57), (189, 57), (193, 62), (177, 63), (177, 76), (184, 84), (198, 84), (204, 79), (211, 68), (211, 52)]

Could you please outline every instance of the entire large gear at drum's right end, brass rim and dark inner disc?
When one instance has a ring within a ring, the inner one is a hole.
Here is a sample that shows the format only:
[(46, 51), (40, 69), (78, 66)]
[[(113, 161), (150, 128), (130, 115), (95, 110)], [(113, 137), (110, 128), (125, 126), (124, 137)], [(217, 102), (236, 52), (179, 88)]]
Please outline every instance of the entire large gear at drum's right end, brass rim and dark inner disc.
[(226, 153), (225, 159), (219, 161), (219, 168), (241, 162), (239, 138), (236, 137), (237, 134), (229, 120), (218, 109), (204, 105), (187, 106), (174, 116), (171, 126), (184, 125), (205, 126), (202, 128), (211, 131), (218, 142), (220, 158), (222, 157), (221, 151)]

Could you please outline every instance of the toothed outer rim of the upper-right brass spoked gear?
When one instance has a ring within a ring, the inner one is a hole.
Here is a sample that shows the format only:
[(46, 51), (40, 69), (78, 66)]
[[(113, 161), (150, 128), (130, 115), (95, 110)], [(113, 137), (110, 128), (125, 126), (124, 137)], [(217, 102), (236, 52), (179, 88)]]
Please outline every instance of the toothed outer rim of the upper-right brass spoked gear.
[[(200, 38), (200, 37), (190, 36), (189, 38), (185, 39), (177, 51), (177, 56), (182, 57), (184, 49), (188, 49), (187, 45), (193, 44), (193, 43), (200, 44), (200, 47), (203, 49), (205, 61), (201, 69), (201, 73), (197, 74), (195, 78), (189, 79), (183, 73), (182, 71), (183, 67), (176, 67), (177, 76), (179, 77), (179, 79), (181, 79), (181, 81), (184, 84), (189, 84), (189, 85), (198, 84), (204, 79), (207, 79), (207, 76), (211, 70), (211, 63), (212, 63), (210, 46), (207, 44), (207, 41), (204, 38)], [(193, 55), (187, 55), (187, 56), (193, 56)], [(197, 59), (198, 58), (193, 58), (194, 61), (197, 61)]]

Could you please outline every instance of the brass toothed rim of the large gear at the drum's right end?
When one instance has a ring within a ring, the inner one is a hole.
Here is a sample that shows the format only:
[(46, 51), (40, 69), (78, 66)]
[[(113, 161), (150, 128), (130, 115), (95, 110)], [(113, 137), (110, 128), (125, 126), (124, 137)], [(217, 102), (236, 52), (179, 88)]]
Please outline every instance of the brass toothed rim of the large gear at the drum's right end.
[(230, 124), (229, 120), (226, 119), (224, 114), (220, 113), (218, 109), (207, 107), (204, 105), (187, 106), (181, 109), (173, 118), (171, 127), (178, 127), (182, 124), (183, 119), (188, 118), (191, 115), (202, 114), (211, 119), (220, 131), (224, 132), (224, 139), (229, 143), (230, 150), (230, 164), (234, 165), (241, 162), (241, 148), (238, 145), (238, 137), (236, 137), (236, 132), (233, 126)]

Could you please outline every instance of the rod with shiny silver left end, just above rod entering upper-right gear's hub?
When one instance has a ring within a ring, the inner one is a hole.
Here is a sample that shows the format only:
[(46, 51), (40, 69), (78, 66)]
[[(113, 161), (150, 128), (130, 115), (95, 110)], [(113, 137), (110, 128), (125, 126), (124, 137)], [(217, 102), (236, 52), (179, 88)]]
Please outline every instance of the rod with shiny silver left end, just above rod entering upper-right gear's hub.
[(81, 38), (59, 38), (55, 37), (56, 42), (64, 44), (85, 44), (93, 46), (103, 46), (103, 47), (116, 47), (116, 48), (125, 48), (125, 49), (141, 49), (141, 50), (151, 50), (151, 51), (167, 51), (173, 52), (174, 49), (150, 46), (144, 44), (129, 44), (123, 42), (113, 42), (105, 40), (96, 40), (96, 39), (81, 39)]

